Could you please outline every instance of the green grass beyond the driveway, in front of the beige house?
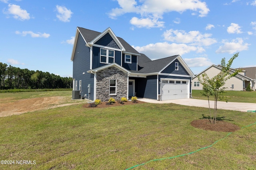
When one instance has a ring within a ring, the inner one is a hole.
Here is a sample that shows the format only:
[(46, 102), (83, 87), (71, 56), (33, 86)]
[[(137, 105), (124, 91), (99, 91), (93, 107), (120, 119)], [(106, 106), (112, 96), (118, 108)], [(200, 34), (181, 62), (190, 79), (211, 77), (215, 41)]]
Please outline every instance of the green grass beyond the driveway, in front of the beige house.
[[(202, 96), (201, 92), (202, 90), (192, 90), (192, 98), (208, 100), (207, 97)], [(226, 91), (225, 96), (228, 97), (228, 102), (256, 103), (256, 91)], [(214, 98), (210, 97), (210, 100)]]

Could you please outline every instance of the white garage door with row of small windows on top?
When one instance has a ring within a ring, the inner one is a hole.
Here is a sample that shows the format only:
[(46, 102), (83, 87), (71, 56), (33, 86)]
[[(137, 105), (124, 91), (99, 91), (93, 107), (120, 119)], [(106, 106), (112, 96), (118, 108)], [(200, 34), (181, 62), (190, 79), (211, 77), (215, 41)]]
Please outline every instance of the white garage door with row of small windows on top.
[(189, 98), (189, 80), (161, 79), (161, 100)]

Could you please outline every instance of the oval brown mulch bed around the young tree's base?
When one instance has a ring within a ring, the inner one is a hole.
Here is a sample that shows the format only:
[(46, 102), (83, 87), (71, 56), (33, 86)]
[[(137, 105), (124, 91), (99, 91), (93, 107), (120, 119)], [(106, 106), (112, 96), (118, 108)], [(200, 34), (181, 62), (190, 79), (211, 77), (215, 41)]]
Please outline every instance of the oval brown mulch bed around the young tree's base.
[(199, 129), (222, 132), (234, 132), (240, 129), (239, 126), (226, 121), (216, 121), (216, 124), (212, 124), (208, 119), (194, 120), (191, 125)]

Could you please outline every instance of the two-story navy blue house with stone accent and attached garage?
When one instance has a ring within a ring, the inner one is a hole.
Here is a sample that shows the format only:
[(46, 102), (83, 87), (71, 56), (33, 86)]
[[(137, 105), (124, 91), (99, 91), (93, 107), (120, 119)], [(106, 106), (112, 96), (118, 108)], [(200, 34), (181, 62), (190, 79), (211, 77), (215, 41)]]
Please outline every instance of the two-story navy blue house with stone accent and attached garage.
[(180, 55), (151, 61), (110, 28), (101, 33), (77, 27), (71, 61), (73, 90), (93, 101), (191, 96), (194, 74)]

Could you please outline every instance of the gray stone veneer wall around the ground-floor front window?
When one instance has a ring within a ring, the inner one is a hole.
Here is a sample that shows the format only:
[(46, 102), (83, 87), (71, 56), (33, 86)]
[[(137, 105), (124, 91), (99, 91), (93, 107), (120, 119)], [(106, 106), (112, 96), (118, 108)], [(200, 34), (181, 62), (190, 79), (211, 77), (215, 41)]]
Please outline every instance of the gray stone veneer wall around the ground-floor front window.
[[(114, 98), (127, 98), (127, 74), (112, 66), (97, 72), (96, 76), (96, 99), (103, 102)], [(109, 81), (110, 79), (116, 80), (116, 95), (109, 95)]]

